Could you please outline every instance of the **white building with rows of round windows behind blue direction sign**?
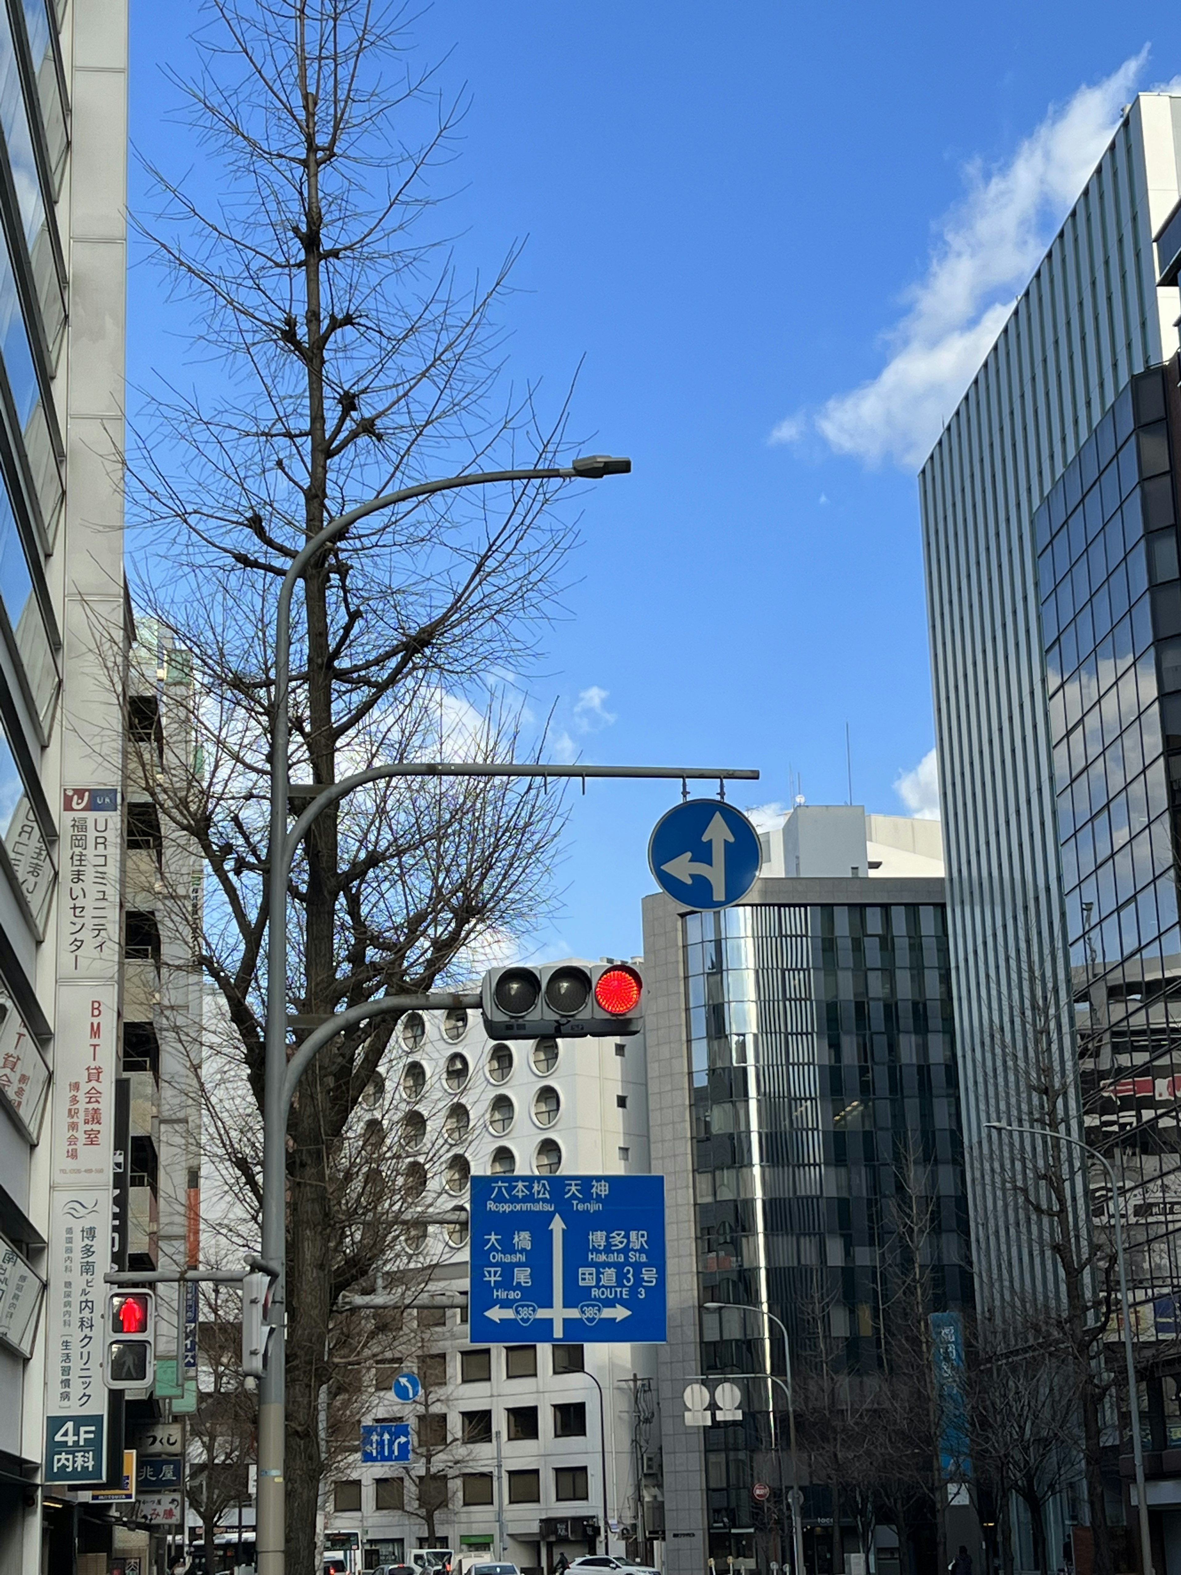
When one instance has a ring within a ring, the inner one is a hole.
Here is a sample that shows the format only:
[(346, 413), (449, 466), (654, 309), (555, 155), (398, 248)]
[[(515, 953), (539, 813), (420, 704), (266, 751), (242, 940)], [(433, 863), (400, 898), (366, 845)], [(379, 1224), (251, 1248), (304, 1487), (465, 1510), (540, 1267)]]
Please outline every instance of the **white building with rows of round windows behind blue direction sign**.
[[(397, 1118), (422, 1156), (428, 1216), (463, 1208), (472, 1173), (650, 1169), (642, 1035), (493, 1043), (465, 1011), (411, 1013), (395, 1032)], [(430, 1279), (373, 1370), (364, 1408), (365, 1421), (411, 1424), (416, 1463), (400, 1471), (346, 1460), (326, 1490), (329, 1545), (354, 1534), (376, 1562), (431, 1545), (416, 1512), (417, 1479), (430, 1474), (435, 1545), (465, 1559), (551, 1575), (561, 1555), (609, 1547), (650, 1556), (663, 1534), (655, 1348), (480, 1339), (468, 1326), (466, 1241), (463, 1225), (417, 1227)], [(391, 1389), (402, 1370), (424, 1381), (414, 1405)]]

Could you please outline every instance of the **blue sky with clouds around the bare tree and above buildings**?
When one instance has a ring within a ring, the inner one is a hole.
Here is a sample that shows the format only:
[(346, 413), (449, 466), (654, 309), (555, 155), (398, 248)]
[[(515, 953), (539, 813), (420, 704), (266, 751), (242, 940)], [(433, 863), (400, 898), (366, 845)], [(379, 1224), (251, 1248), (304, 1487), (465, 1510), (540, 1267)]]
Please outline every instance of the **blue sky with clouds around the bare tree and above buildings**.
[[(132, 137), (187, 162), (159, 63), (191, 0), (132, 0)], [(1181, 13), (442, 0), (414, 25), (471, 94), (447, 225), (461, 266), (526, 239), (513, 375), (635, 474), (584, 499), (540, 706), (581, 758), (754, 765), (739, 803), (909, 813), (932, 747), (915, 457)], [(1145, 54), (1145, 50), (1148, 52)], [(143, 181), (132, 170), (131, 202)], [(131, 282), (129, 373), (180, 346)], [(929, 772), (926, 773), (929, 780)], [(674, 784), (572, 800), (543, 950), (631, 954)]]

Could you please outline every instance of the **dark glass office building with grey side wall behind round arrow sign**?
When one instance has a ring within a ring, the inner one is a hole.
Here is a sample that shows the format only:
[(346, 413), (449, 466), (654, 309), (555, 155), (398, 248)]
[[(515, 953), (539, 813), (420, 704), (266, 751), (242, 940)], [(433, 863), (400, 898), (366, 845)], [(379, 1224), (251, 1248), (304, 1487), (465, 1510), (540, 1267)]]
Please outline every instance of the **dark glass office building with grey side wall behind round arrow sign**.
[[(652, 1169), (669, 1236), (671, 1575), (789, 1561), (786, 1364), (768, 1314), (787, 1328), (797, 1380), (806, 1354), (839, 1384), (880, 1380), (904, 1306), (920, 1347), (931, 1314), (972, 1306), (939, 852), (932, 822), (798, 806), (764, 836), (764, 877), (737, 906), (644, 899)], [(932, 873), (891, 874), (893, 855)], [(716, 1399), (727, 1375), (746, 1375), (742, 1421)], [(704, 1416), (690, 1403), (702, 1391)], [(863, 1553), (842, 1509), (806, 1482), (809, 1569), (839, 1570), (844, 1544)], [(882, 1526), (877, 1569), (896, 1561)]]

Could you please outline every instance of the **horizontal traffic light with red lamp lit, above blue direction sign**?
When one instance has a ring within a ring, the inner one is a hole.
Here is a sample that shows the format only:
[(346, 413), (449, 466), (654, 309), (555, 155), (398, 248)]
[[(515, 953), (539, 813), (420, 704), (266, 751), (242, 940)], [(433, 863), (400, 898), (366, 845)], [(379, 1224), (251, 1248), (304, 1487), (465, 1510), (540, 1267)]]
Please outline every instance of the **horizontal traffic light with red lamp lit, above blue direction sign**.
[(644, 978), (630, 962), (551, 962), (490, 969), (480, 989), (496, 1040), (624, 1035), (644, 1027)]

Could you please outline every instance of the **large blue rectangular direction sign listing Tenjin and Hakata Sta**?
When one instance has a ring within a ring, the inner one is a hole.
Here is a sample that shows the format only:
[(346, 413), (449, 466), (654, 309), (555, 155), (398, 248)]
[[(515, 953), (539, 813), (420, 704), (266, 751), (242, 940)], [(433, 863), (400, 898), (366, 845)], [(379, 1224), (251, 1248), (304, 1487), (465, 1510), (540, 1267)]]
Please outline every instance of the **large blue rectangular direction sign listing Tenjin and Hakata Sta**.
[(663, 1177), (472, 1177), (472, 1340), (665, 1339)]

